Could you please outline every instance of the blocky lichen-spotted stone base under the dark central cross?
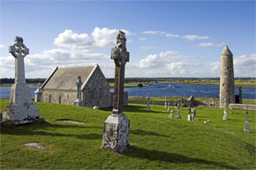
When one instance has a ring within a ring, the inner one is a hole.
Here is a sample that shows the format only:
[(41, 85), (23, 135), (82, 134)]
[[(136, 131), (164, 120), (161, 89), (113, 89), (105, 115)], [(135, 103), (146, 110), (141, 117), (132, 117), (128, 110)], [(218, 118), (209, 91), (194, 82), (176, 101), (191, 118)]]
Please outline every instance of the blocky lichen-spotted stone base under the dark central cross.
[(124, 114), (109, 115), (104, 122), (102, 148), (112, 152), (124, 152), (130, 146), (130, 120)]

